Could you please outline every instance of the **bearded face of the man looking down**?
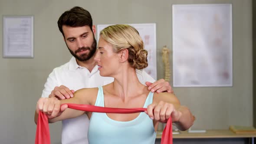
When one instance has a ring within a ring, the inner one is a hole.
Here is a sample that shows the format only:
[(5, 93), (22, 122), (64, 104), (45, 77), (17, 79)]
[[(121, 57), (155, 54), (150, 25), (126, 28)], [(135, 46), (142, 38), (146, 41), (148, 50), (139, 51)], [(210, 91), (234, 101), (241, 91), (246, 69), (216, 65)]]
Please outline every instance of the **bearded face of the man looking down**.
[[(96, 39), (89, 26), (62, 26), (69, 52), (79, 61), (90, 59), (96, 51)], [(95, 32), (95, 28), (93, 27)]]

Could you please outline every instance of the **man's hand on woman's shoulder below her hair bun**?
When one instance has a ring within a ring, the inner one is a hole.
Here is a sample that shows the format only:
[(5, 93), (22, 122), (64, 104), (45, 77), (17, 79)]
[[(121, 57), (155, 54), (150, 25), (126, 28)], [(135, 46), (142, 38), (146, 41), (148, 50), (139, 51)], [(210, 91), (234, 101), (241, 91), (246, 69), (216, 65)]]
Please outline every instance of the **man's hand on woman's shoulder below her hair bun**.
[(151, 82), (146, 82), (146, 85), (148, 86), (148, 90), (151, 90), (151, 92), (170, 92), (174, 93), (171, 85), (169, 82), (166, 82), (164, 79), (159, 79), (158, 81), (151, 83)]

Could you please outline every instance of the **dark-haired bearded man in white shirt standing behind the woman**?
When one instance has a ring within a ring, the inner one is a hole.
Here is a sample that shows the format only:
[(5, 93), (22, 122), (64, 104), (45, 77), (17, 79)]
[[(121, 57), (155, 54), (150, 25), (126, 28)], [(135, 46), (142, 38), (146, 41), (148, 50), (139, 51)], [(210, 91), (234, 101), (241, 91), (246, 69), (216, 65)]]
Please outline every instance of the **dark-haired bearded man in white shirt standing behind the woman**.
[[(45, 83), (42, 97), (71, 98), (78, 89), (113, 82), (113, 78), (99, 75), (97, 62), (94, 61), (96, 29), (92, 25), (91, 14), (81, 7), (73, 7), (59, 17), (58, 26), (73, 57), (66, 64), (53, 69)], [(163, 79), (154, 82), (143, 70), (138, 71), (137, 75), (140, 82), (148, 85), (152, 92), (172, 92), (170, 84)], [(62, 144), (88, 144), (88, 126), (87, 115), (62, 121)]]

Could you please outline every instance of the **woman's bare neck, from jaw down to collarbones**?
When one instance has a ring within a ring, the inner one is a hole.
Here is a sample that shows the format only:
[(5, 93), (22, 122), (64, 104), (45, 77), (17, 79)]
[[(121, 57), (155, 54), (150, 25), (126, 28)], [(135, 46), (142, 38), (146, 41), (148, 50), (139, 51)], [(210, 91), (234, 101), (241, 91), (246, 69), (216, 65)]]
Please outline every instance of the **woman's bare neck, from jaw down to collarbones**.
[(138, 80), (138, 76), (134, 68), (128, 66), (121, 69), (118, 75), (115, 75), (113, 82), (113, 92), (120, 96), (123, 100), (129, 96), (135, 96), (144, 92), (144, 85)]

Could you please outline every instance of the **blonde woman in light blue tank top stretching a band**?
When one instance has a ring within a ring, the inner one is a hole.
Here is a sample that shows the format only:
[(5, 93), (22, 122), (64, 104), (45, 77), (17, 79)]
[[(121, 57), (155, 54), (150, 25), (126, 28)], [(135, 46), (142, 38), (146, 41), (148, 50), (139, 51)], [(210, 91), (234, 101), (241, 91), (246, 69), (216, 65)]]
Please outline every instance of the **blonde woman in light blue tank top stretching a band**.
[[(154, 144), (159, 122), (172, 121), (180, 130), (194, 122), (188, 108), (171, 93), (152, 93), (138, 81), (135, 69), (148, 66), (147, 51), (138, 31), (129, 25), (108, 26), (100, 33), (98, 62), (100, 75), (113, 77), (114, 82), (99, 88), (83, 88), (65, 100), (40, 98), (36, 111), (43, 111), (53, 123), (86, 114), (90, 119), (90, 144)], [(77, 111), (65, 103), (87, 104), (112, 108), (147, 108), (145, 113), (106, 114)], [(37, 117), (35, 118), (35, 122)]]

